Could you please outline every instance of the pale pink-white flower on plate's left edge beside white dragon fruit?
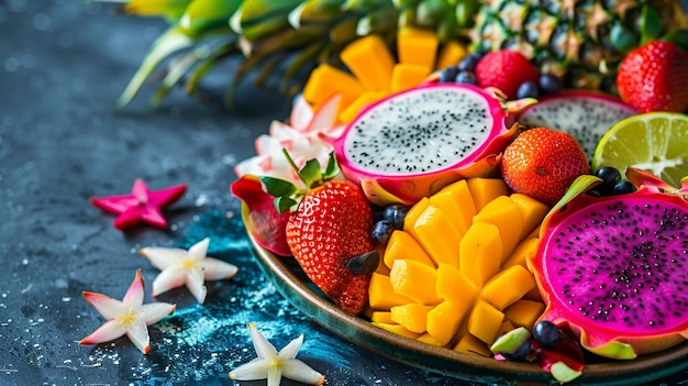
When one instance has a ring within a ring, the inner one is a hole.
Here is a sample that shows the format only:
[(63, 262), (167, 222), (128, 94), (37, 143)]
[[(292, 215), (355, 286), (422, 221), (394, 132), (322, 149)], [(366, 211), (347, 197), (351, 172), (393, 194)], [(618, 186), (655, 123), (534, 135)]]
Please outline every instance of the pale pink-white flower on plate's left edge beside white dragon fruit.
[(332, 145), (322, 137), (335, 135), (340, 130), (334, 124), (339, 102), (340, 98), (333, 97), (318, 111), (312, 111), (306, 100), (297, 99), (289, 124), (273, 121), (268, 134), (259, 135), (255, 141), (257, 155), (238, 163), (234, 167), (236, 175), (270, 176), (303, 187), (282, 154), (282, 148), (289, 152), (299, 167), (313, 158), (325, 165)]

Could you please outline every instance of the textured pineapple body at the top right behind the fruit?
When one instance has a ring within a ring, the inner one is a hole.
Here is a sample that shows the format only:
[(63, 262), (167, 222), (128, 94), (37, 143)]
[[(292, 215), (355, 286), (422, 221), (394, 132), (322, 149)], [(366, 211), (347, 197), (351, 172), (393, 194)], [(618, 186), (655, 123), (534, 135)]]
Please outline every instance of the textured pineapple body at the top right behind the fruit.
[(631, 49), (687, 24), (678, 0), (486, 0), (474, 49), (518, 49), (570, 88), (615, 91)]

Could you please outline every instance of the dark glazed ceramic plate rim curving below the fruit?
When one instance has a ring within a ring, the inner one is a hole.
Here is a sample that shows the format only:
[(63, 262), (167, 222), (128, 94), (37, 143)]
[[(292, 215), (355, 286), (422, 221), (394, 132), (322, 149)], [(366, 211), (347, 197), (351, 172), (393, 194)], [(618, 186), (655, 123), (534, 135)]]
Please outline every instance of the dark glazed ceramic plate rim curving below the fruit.
[[(550, 374), (533, 364), (497, 362), (435, 348), (370, 324), (340, 310), (308, 280), (293, 258), (262, 249), (248, 235), (258, 265), (291, 304), (329, 331), (393, 361), (465, 381), (499, 385), (555, 385)], [(688, 342), (633, 361), (586, 364), (576, 385), (632, 385), (659, 379), (688, 368)]]

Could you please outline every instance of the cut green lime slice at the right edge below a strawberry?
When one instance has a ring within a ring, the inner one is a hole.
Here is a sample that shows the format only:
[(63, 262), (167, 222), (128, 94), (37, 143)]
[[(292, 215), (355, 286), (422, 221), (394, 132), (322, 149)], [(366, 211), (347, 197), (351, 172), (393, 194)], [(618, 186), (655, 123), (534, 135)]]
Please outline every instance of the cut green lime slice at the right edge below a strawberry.
[(595, 151), (592, 168), (601, 166), (622, 174), (634, 166), (680, 187), (680, 179), (688, 176), (688, 115), (648, 112), (617, 123)]

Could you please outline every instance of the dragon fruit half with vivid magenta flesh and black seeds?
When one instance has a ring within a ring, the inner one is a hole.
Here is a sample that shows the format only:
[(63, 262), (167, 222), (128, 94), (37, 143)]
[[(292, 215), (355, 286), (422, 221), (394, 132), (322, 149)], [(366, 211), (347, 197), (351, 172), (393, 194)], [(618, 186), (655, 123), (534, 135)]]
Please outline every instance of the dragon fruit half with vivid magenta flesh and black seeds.
[(630, 174), (659, 186), (559, 202), (529, 262), (547, 305), (540, 319), (612, 359), (634, 359), (688, 339), (688, 179), (683, 190), (667, 194), (655, 177)]

